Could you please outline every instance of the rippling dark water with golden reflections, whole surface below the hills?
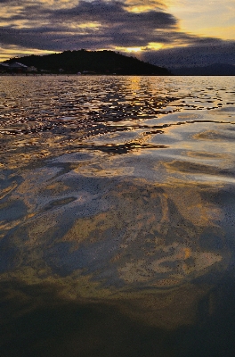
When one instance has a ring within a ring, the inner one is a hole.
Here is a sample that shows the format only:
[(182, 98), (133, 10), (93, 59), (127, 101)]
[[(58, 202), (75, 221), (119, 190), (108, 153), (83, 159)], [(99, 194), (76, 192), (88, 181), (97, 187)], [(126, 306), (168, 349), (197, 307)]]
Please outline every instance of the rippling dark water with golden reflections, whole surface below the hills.
[(0, 78), (0, 356), (235, 354), (235, 86)]

